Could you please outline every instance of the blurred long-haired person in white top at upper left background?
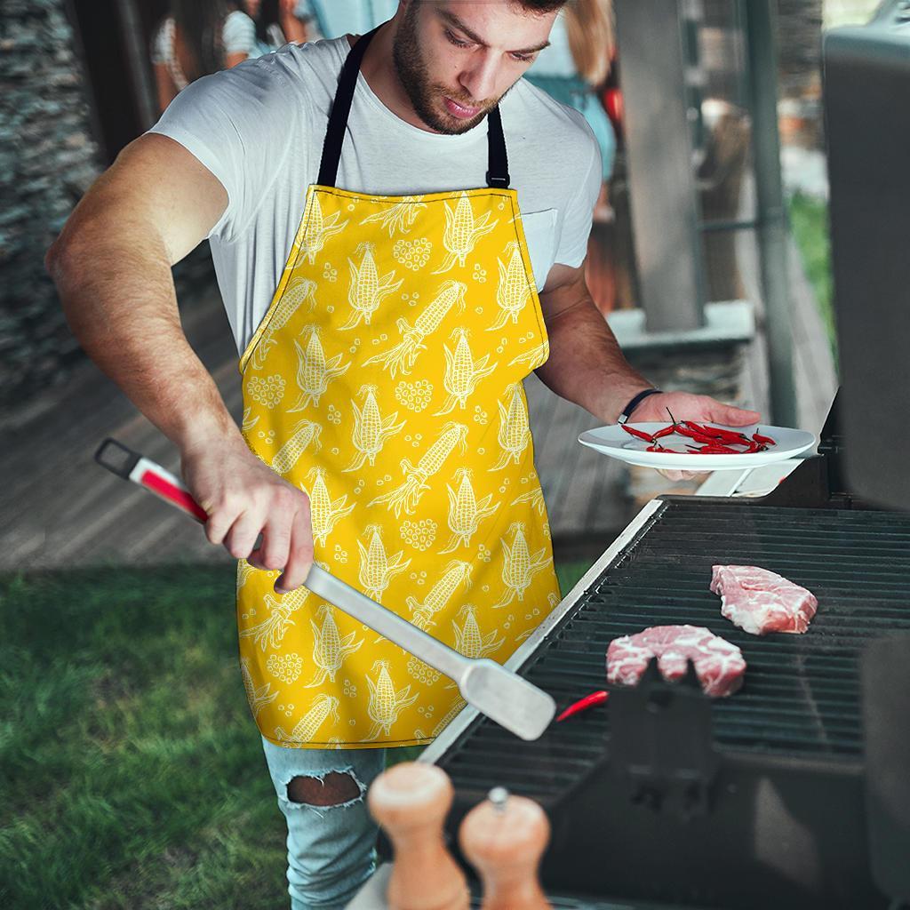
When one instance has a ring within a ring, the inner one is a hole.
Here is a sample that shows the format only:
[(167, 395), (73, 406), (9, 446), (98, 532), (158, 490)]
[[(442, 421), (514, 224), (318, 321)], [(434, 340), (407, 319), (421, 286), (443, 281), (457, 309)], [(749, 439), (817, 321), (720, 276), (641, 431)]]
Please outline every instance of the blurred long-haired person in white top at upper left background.
[(171, 0), (152, 39), (159, 112), (201, 76), (258, 56), (256, 46), (253, 20), (227, 0)]

